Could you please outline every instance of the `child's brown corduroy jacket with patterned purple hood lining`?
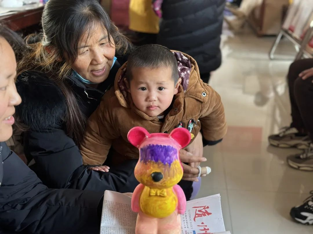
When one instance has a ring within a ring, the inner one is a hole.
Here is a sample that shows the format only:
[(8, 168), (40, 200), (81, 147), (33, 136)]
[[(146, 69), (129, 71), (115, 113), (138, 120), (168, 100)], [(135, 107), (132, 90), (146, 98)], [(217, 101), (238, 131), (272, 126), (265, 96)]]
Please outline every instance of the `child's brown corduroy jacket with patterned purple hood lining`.
[(116, 74), (114, 87), (105, 93), (88, 120), (80, 147), (84, 164), (102, 165), (111, 147), (116, 153), (113, 158), (116, 162), (139, 158), (138, 149), (127, 140), (128, 131), (135, 126), (141, 126), (149, 133), (170, 133), (174, 128), (185, 127), (192, 138), (201, 129), (204, 139), (208, 141), (223, 138), (227, 126), (220, 96), (202, 82), (198, 65), (192, 57), (173, 53), (177, 57), (182, 84), (173, 97), (172, 108), (164, 122), (157, 117), (149, 117), (133, 104), (123, 84), (124, 64)]

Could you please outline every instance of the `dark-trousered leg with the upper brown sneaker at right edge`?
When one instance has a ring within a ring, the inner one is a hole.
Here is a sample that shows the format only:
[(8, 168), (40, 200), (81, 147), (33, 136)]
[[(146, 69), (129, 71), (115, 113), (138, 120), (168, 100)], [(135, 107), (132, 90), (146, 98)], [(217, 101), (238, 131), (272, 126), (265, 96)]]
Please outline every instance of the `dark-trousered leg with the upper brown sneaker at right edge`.
[[(303, 113), (305, 115), (305, 119), (302, 118), (303, 116), (301, 115), (298, 106), (299, 103), (296, 101), (295, 91), (301, 89), (302, 92), (310, 93), (307, 87), (312, 85), (312, 83), (310, 83), (309, 80), (302, 80), (299, 78), (299, 74), (311, 67), (313, 67), (313, 59), (298, 60), (290, 65), (287, 78), (289, 85), (292, 123), (290, 124), (290, 127), (283, 128), (280, 133), (269, 136), (269, 143), (271, 145), (282, 148), (297, 147), (299, 149), (306, 149), (309, 147), (311, 140), (307, 135), (308, 129), (306, 128), (304, 120), (310, 117), (306, 117), (308, 113)], [(299, 92), (297, 92), (297, 94), (299, 94)], [(306, 103), (307, 104), (301, 103), (301, 107), (304, 108), (303, 105), (310, 105), (307, 101)]]

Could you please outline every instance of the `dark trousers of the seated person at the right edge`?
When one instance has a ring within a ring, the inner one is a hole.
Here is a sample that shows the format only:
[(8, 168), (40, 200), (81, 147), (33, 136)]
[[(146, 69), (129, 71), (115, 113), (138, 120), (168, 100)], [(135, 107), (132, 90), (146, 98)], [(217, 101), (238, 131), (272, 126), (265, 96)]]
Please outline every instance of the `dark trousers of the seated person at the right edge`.
[(293, 62), (289, 67), (288, 85), (291, 103), (291, 127), (309, 134), (313, 141), (313, 76), (302, 80), (299, 74), (313, 67), (313, 59)]

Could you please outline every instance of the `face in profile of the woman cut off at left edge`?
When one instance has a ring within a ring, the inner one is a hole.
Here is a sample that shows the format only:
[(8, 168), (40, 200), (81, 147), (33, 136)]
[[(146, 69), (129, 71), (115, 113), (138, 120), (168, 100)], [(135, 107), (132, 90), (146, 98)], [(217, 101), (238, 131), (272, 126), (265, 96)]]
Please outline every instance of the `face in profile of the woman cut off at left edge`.
[(0, 37), (0, 142), (12, 136), (13, 114), (21, 103), (15, 87), (16, 60), (12, 47)]

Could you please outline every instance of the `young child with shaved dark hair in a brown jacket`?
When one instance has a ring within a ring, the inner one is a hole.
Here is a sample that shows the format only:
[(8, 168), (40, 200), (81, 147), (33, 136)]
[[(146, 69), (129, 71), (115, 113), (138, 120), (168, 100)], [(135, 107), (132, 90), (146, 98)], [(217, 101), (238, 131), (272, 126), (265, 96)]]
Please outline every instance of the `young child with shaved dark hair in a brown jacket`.
[(192, 139), (201, 131), (210, 145), (227, 129), (221, 98), (202, 82), (196, 61), (154, 44), (133, 51), (91, 115), (80, 148), (83, 163), (103, 165), (111, 147), (112, 164), (139, 158), (127, 140), (135, 126), (149, 133), (187, 128)]

